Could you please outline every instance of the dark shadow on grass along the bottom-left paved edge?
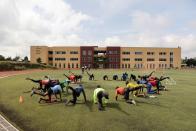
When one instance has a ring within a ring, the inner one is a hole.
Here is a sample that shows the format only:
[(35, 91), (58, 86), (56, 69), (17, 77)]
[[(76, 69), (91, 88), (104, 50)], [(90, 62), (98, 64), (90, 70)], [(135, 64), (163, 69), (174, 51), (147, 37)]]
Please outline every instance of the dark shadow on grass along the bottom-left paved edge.
[(37, 131), (36, 127), (31, 127), (31, 120), (23, 119), (13, 109), (6, 108), (6, 105), (0, 104), (0, 112), (2, 112), (9, 120), (14, 122), (19, 128), (24, 131)]

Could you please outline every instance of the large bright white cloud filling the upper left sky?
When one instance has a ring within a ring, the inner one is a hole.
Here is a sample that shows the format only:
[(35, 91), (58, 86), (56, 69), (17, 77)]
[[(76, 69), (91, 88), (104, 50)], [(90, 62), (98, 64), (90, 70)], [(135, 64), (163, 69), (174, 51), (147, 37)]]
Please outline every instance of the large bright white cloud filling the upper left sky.
[(1, 0), (0, 54), (24, 56), (30, 45), (79, 42), (82, 22), (90, 18), (63, 0)]

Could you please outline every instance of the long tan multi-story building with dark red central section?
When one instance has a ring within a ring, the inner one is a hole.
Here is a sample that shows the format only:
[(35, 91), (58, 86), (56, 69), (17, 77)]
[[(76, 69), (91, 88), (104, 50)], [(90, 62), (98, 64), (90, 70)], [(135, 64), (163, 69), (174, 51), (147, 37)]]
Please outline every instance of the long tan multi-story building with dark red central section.
[(57, 68), (180, 68), (181, 48), (31, 46), (31, 62)]

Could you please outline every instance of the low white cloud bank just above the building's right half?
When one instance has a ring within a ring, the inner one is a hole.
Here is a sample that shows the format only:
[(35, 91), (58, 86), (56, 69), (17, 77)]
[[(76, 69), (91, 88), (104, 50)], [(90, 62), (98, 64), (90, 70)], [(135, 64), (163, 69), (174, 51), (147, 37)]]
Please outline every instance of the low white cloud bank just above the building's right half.
[(196, 35), (166, 34), (163, 36), (149, 35), (148, 33), (130, 34), (127, 36), (107, 37), (103, 44), (125, 47), (174, 47), (182, 49), (182, 57), (196, 56)]

